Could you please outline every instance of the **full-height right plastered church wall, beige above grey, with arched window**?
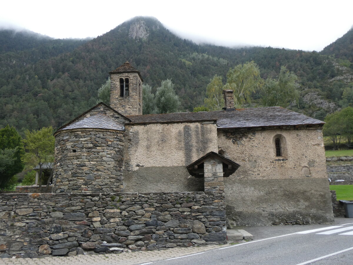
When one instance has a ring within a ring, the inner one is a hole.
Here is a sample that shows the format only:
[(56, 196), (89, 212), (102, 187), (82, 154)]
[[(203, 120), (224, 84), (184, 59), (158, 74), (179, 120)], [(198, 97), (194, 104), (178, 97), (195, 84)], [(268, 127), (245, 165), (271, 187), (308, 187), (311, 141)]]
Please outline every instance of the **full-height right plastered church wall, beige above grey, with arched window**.
[[(283, 157), (276, 157), (281, 136)], [(333, 221), (320, 128), (219, 130), (224, 155), (240, 164), (225, 178), (227, 218), (236, 225)]]

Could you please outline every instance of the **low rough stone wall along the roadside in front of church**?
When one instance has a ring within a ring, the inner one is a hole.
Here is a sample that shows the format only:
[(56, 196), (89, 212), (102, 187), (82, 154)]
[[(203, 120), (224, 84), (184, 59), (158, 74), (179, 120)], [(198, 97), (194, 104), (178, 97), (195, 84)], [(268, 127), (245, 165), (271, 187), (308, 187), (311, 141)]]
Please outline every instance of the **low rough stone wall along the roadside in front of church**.
[(226, 240), (223, 192), (0, 195), (0, 257), (120, 253)]

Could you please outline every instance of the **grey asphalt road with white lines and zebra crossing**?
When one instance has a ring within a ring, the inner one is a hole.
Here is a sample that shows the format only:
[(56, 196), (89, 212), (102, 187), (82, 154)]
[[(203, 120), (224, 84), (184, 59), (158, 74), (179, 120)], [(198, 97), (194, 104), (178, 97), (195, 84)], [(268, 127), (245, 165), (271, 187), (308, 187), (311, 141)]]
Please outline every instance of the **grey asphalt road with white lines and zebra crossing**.
[(336, 218), (333, 225), (246, 227), (253, 241), (151, 265), (216, 264), (353, 264), (353, 219)]

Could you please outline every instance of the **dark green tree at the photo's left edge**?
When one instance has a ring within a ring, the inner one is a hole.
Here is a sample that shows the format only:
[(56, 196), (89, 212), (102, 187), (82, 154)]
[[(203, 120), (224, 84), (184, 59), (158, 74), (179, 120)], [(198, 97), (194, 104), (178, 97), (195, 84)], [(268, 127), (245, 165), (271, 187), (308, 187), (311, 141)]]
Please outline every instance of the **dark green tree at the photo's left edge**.
[(0, 130), (0, 189), (4, 190), (7, 183), (23, 170), (22, 155), (24, 154), (22, 138), (15, 128), (7, 125)]

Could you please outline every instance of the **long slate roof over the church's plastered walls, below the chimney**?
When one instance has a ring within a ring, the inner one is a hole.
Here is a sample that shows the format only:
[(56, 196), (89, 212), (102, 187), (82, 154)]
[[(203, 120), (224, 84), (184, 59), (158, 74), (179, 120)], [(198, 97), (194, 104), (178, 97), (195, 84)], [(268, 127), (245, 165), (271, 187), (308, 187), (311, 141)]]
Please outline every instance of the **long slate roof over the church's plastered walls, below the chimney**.
[(216, 120), (219, 128), (324, 124), (321, 120), (282, 107), (240, 108), (233, 111), (128, 115), (131, 123), (170, 123)]

